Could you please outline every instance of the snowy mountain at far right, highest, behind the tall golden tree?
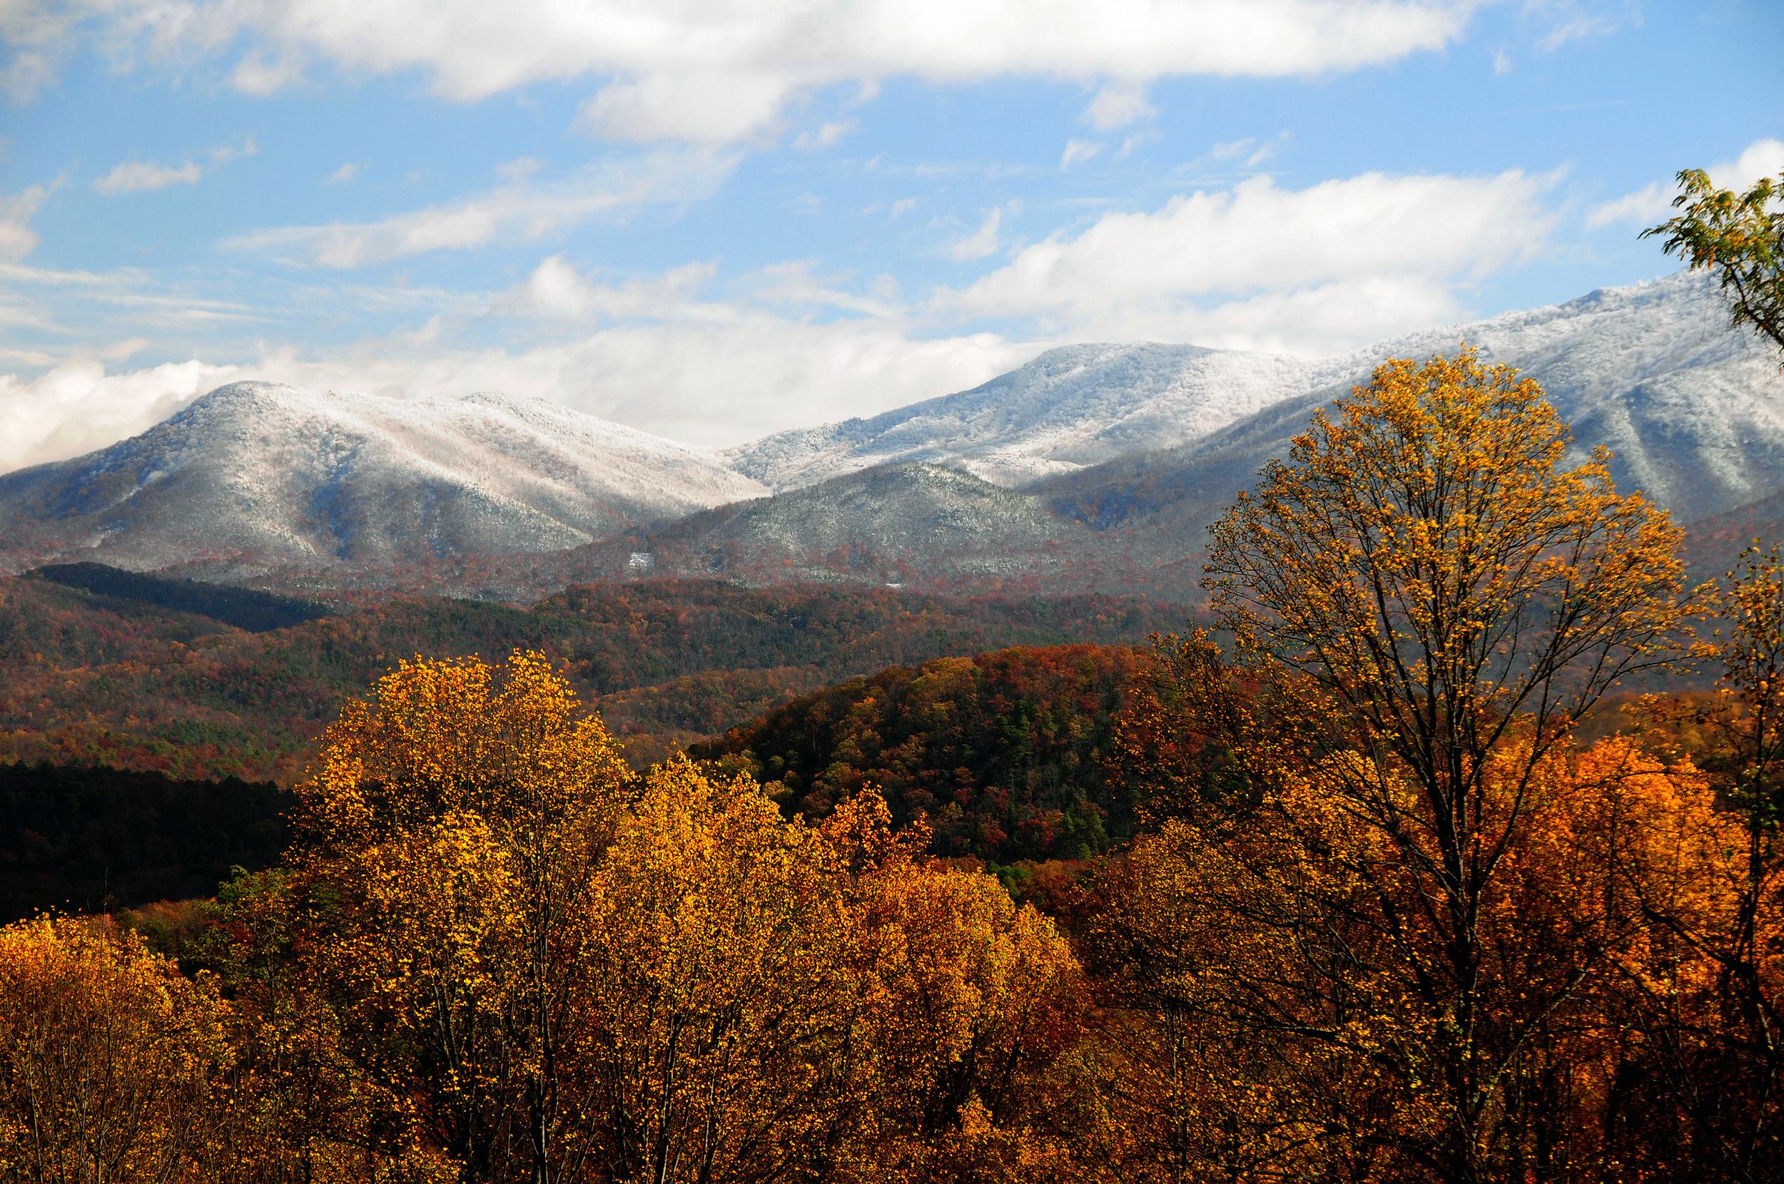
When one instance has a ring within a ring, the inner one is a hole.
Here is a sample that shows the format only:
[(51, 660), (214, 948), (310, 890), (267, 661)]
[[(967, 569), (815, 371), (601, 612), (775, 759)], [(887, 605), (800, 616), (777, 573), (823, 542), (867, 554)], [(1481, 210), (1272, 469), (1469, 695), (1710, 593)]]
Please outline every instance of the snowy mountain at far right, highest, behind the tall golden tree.
[[(1720, 294), (1702, 276), (1600, 289), (1549, 308), (1411, 333), (1349, 355), (1343, 367), (1363, 382), (1381, 358), (1452, 353), (1463, 342), (1540, 380), (1573, 428), (1575, 455), (1611, 448), (1618, 489), (1643, 490), (1681, 522), (1784, 487), (1777, 353), (1729, 328)], [(1172, 449), (1031, 489), (1103, 528), (1163, 515), (1172, 537), (1199, 546), (1201, 526), (1265, 460), (1284, 455), (1308, 415), (1345, 385), (1297, 394)]]

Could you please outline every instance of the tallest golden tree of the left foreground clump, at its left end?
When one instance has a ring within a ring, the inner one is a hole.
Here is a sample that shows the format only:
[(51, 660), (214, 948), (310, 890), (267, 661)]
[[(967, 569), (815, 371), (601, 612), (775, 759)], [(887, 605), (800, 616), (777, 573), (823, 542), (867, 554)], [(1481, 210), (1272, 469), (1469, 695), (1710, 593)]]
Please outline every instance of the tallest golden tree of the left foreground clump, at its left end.
[(594, 879), (630, 770), (541, 654), (405, 662), (298, 788), (316, 968), (360, 1068), (466, 1179), (566, 1177)]

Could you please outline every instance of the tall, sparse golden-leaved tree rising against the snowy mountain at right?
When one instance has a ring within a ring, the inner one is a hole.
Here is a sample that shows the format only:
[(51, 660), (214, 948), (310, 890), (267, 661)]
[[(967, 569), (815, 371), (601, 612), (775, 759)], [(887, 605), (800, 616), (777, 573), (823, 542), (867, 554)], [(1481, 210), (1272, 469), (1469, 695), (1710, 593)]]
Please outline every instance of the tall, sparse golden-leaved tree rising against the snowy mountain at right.
[[(1206, 735), (1170, 770), (1183, 817), (1104, 920), (1142, 997), (1249, 1066), (1170, 1045), (1176, 1179), (1210, 1154), (1251, 1177), (1454, 1180), (1572, 1154), (1577, 1114), (1520, 1082), (1638, 925), (1565, 893), (1538, 908), (1518, 876), (1598, 792), (1577, 788), (1598, 772), (1575, 724), (1677, 656), (1688, 594), (1666, 515), (1568, 444), (1511, 369), (1390, 360), (1213, 528), (1233, 656), (1167, 644)], [(1197, 1134), (1183, 1098), (1210, 1073), (1229, 1118)]]

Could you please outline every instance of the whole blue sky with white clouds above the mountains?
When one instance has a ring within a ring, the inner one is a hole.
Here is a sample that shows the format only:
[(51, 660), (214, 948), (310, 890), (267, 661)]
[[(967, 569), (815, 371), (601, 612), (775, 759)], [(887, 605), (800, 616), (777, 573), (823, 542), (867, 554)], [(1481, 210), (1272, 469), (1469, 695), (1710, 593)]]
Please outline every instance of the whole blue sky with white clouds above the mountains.
[(0, 469), (237, 378), (706, 444), (1047, 344), (1329, 353), (1672, 269), (1772, 0), (0, 0)]

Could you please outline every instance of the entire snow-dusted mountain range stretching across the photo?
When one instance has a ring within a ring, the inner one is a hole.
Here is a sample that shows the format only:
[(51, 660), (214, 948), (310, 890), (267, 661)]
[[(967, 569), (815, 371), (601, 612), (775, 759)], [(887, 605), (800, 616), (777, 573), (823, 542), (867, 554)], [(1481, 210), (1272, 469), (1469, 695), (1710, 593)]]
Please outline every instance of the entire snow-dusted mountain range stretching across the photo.
[(1775, 351), (1729, 328), (1704, 276), (1675, 275), (1320, 360), (1067, 346), (726, 453), (500, 394), (235, 383), (136, 439), (0, 476), (0, 571), (77, 558), (405, 587), (421, 563), (503, 596), (640, 571), (1179, 596), (1202, 528), (1315, 408), (1386, 357), (1463, 342), (1536, 376), (1579, 449), (1615, 449), (1618, 487), (1681, 522), (1784, 490)]

